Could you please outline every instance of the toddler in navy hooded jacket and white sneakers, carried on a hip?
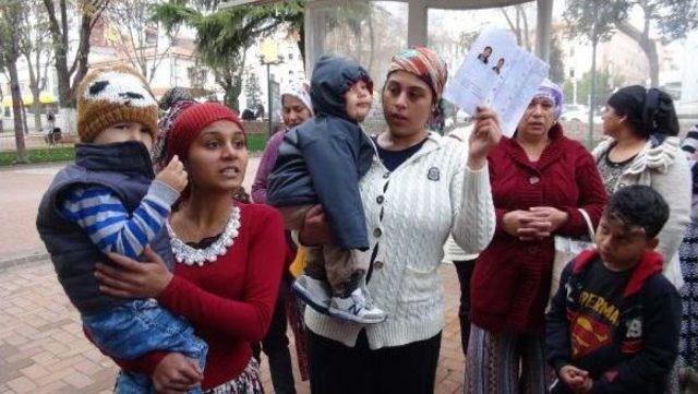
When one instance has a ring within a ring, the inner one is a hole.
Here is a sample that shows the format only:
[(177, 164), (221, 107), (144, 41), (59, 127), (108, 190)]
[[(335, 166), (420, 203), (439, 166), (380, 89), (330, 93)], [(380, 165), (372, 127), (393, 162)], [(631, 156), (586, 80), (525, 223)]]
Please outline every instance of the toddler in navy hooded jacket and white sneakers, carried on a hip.
[(364, 286), (369, 238), (359, 192), (375, 152), (359, 126), (371, 110), (373, 81), (357, 62), (326, 56), (315, 64), (310, 96), (316, 117), (284, 135), (266, 199), (291, 230), (321, 204), (336, 242), (308, 248), (305, 273), (292, 289), (320, 312), (380, 323), (386, 314)]

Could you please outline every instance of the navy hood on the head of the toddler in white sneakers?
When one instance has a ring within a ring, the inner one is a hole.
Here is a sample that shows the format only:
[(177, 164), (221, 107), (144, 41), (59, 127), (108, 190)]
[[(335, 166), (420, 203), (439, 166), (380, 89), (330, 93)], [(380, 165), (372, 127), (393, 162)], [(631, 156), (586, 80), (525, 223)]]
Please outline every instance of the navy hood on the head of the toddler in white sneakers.
[(345, 94), (357, 81), (371, 82), (369, 72), (353, 60), (323, 56), (311, 79), (310, 98), (317, 116), (334, 116), (352, 122), (347, 115)]

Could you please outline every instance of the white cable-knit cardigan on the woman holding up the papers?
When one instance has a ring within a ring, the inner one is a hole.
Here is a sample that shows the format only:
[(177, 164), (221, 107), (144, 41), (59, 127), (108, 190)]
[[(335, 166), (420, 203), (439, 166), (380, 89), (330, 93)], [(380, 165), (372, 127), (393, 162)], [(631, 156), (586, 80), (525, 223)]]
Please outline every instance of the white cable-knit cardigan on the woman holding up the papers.
[(393, 172), (374, 158), (360, 184), (371, 246), (364, 258), (377, 243), (368, 288), (388, 318), (364, 326), (306, 308), (310, 330), (354, 346), (365, 327), (372, 349), (428, 339), (443, 330), (438, 267), (446, 238), (452, 235), (467, 253), (479, 253), (495, 228), (488, 167), (470, 170), (467, 151), (466, 144), (431, 133)]

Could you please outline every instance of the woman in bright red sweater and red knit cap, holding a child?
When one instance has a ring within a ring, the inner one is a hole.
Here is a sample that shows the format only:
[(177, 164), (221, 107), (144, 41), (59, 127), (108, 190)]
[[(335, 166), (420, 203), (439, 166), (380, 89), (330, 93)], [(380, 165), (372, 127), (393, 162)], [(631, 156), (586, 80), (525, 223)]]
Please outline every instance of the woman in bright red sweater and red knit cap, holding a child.
[(97, 275), (107, 294), (153, 297), (189, 320), (208, 344), (206, 368), (202, 377), (180, 354), (149, 354), (120, 365), (149, 373), (158, 392), (201, 383), (204, 393), (261, 393), (250, 344), (264, 337), (272, 320), (287, 251), (282, 219), (272, 207), (231, 198), (242, 183), (248, 151), (242, 124), (227, 107), (189, 107), (167, 146), (168, 160), (178, 155), (190, 176), (168, 224), (173, 275), (153, 252), (146, 253), (152, 263), (110, 255), (127, 273), (100, 265)]

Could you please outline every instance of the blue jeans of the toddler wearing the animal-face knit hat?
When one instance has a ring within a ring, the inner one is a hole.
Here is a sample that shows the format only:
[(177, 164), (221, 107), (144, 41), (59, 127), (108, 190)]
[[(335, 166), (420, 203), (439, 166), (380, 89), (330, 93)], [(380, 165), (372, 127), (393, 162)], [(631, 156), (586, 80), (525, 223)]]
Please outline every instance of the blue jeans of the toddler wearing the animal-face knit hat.
[[(194, 335), (194, 329), (186, 321), (154, 299), (133, 300), (82, 319), (92, 341), (107, 356), (133, 360), (155, 350), (181, 353), (196, 359), (204, 370), (208, 345)], [(115, 393), (153, 392), (153, 382), (147, 375), (122, 371), (117, 378)], [(201, 392), (201, 387), (189, 391), (190, 394)]]

